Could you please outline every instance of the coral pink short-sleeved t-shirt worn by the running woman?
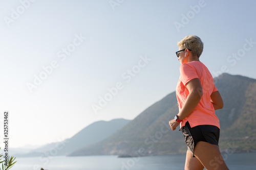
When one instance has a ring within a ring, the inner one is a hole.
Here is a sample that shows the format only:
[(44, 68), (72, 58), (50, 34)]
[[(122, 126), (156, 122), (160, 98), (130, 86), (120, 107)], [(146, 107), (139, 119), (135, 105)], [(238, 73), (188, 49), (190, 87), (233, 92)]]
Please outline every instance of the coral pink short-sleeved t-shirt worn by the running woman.
[(182, 120), (180, 127), (185, 126), (188, 121), (191, 128), (198, 125), (214, 125), (220, 129), (219, 119), (215, 114), (214, 106), (210, 102), (211, 93), (218, 91), (218, 89), (214, 84), (210, 71), (200, 61), (183, 63), (180, 66), (180, 79), (176, 87), (179, 110), (181, 110), (189, 94), (186, 84), (195, 78), (199, 78), (201, 82), (203, 95), (197, 107)]

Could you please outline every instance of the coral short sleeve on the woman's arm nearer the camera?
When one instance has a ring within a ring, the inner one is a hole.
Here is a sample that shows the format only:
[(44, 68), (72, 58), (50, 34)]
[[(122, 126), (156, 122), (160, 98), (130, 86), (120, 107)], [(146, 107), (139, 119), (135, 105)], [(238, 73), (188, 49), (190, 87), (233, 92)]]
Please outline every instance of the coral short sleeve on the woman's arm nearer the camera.
[(199, 78), (196, 68), (187, 63), (181, 64), (181, 66), (180, 66), (181, 82), (186, 86), (186, 84), (190, 80), (195, 79), (195, 78)]

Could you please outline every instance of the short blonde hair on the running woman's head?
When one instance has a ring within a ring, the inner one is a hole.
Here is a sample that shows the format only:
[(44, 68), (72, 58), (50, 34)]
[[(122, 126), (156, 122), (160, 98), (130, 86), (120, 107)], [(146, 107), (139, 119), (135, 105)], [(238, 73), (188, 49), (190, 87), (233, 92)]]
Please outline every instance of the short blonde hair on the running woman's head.
[(188, 48), (191, 50), (193, 56), (200, 57), (203, 53), (204, 43), (198, 36), (189, 35), (183, 38), (180, 42), (178, 42), (178, 46), (181, 49)]

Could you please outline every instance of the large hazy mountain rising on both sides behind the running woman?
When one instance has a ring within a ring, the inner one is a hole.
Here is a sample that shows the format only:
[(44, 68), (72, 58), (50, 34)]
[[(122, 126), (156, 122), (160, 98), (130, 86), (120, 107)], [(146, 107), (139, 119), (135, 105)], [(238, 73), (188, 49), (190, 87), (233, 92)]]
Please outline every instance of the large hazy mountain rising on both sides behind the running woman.
[[(221, 125), (221, 151), (256, 150), (256, 80), (229, 74), (214, 80), (224, 101), (223, 109), (216, 111)], [(172, 92), (113, 135), (69, 156), (185, 153), (182, 132), (178, 128), (172, 131), (168, 125), (177, 113), (176, 93)]]

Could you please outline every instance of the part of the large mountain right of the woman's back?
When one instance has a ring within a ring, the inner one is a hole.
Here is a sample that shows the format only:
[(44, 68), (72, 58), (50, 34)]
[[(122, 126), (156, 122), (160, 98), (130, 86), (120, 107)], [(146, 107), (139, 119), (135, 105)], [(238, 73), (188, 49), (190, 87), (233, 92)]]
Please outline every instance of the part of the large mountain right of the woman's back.
[[(224, 79), (224, 81), (222, 80)], [(256, 150), (256, 80), (223, 74), (216, 80), (225, 107), (216, 114), (221, 124), (220, 147)]]

